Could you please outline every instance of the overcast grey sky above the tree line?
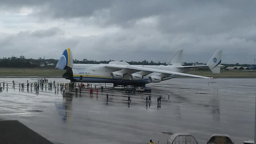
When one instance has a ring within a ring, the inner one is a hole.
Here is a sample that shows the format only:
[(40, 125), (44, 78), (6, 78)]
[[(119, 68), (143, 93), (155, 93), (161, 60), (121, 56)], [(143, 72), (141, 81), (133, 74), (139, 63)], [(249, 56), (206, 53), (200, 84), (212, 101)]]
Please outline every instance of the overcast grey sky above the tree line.
[(0, 0), (0, 57), (253, 64), (256, 1)]

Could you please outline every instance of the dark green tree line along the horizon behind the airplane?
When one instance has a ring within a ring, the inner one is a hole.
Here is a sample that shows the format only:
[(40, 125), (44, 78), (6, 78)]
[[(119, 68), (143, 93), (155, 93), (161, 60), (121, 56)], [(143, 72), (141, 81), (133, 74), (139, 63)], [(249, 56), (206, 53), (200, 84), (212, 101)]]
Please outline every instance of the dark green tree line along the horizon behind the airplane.
[[(104, 61), (95, 61), (95, 60), (73, 60), (74, 64), (107, 64), (110, 61), (114, 60), (104, 60)], [(58, 60), (57, 59), (44, 59), (44, 58), (39, 58), (39, 59), (26, 59), (24, 56), (20, 57), (3, 57), (0, 59), (0, 67), (1, 68), (39, 68), (39, 67), (46, 67), (46, 68), (55, 68), (55, 65), (57, 64)], [(127, 62), (127, 61), (126, 61)], [(166, 65), (166, 63), (161, 63), (160, 61), (154, 62), (154, 61), (129, 61), (127, 62), (131, 65)], [(53, 65), (51, 65), (53, 64)], [(193, 65), (193, 63), (187, 63), (184, 62), (184, 65)], [(44, 66), (43, 66), (44, 65)], [(225, 65), (225, 67), (233, 67), (233, 66), (243, 66), (243, 67), (248, 67), (249, 64), (222, 64)]]

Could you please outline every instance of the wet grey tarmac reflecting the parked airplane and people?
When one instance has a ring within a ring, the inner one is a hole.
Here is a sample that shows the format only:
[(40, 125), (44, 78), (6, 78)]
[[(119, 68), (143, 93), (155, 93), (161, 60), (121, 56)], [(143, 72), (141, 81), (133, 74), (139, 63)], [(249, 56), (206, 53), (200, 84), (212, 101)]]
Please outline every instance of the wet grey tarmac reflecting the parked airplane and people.
[[(161, 144), (167, 143), (168, 133), (189, 133), (198, 143), (206, 143), (214, 133), (228, 134), (235, 143), (253, 140), (256, 79), (171, 79), (148, 84), (151, 93), (130, 94), (130, 103), (129, 94), (109, 90), (111, 84), (98, 95), (87, 89), (63, 95), (48, 87), (37, 94), (34, 88), (27, 91), (27, 80), (36, 78), (0, 78), (1, 87), (5, 81), (0, 119), (19, 120), (55, 143), (144, 144), (152, 139)], [(54, 80), (69, 82), (49, 78)], [(24, 91), (18, 83), (25, 83)], [(146, 104), (149, 95), (152, 102)]]

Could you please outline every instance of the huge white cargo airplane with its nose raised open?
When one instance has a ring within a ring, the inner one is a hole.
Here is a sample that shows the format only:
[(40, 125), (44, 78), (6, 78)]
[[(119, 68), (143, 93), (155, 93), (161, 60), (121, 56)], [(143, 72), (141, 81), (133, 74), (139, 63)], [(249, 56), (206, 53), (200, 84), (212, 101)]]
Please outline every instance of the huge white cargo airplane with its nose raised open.
[(222, 51), (215, 52), (206, 65), (184, 66), (181, 63), (183, 50), (177, 51), (167, 65), (130, 65), (123, 61), (111, 61), (108, 64), (73, 64), (70, 48), (61, 55), (56, 68), (66, 69), (63, 78), (83, 83), (113, 83), (115, 85), (143, 86), (148, 83), (159, 83), (177, 76), (191, 76), (211, 79), (186, 72), (191, 69), (209, 68), (213, 73), (220, 73)]

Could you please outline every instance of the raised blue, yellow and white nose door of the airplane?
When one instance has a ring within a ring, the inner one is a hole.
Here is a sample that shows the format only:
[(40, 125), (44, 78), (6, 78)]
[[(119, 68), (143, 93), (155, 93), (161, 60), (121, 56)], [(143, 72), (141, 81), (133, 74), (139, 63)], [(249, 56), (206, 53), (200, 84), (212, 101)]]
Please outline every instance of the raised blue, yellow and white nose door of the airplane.
[(67, 69), (67, 67), (73, 68), (73, 56), (70, 48), (67, 48), (63, 52), (56, 65), (56, 68), (58, 69)]

